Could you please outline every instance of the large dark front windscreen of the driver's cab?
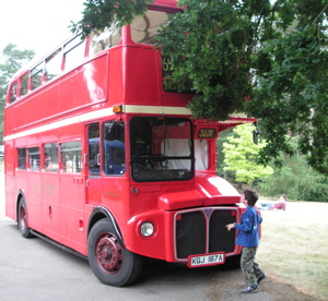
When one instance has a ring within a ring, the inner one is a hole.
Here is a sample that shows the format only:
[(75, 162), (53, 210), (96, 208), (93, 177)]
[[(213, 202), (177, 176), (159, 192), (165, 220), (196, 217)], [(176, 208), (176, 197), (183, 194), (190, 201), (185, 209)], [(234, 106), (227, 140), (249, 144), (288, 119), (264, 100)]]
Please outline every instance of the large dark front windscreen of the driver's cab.
[(189, 120), (134, 117), (130, 132), (133, 180), (171, 181), (192, 177), (194, 140)]

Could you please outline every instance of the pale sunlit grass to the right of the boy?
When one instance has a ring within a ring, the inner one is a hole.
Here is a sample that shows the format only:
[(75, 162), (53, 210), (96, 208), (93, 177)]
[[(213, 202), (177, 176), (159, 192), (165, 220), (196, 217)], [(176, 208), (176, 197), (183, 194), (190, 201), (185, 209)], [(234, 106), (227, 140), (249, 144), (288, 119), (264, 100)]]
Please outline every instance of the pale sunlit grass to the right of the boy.
[(328, 300), (328, 203), (288, 202), (285, 212), (261, 213), (257, 253), (261, 268), (302, 292)]

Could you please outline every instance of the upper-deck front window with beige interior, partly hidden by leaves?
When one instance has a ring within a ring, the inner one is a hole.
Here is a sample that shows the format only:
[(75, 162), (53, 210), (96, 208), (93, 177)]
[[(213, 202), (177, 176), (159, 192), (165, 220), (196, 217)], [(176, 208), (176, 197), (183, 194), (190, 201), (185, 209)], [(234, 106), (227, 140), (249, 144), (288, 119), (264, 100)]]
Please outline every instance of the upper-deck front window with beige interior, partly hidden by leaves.
[(155, 36), (162, 25), (167, 23), (168, 13), (148, 10), (143, 16), (137, 16), (131, 24), (131, 37), (134, 43), (155, 44)]

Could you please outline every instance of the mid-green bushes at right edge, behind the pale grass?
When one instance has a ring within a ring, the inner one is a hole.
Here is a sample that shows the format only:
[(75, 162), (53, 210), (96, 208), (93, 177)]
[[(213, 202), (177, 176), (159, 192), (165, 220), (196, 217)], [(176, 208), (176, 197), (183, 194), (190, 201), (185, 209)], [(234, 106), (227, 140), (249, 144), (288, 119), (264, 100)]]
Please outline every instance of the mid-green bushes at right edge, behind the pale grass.
[(306, 165), (306, 157), (296, 150), (297, 141), (292, 141), (295, 155), (281, 154), (280, 168), (274, 173), (261, 179), (257, 186), (261, 195), (278, 196), (286, 194), (290, 200), (328, 202), (328, 178), (319, 174)]

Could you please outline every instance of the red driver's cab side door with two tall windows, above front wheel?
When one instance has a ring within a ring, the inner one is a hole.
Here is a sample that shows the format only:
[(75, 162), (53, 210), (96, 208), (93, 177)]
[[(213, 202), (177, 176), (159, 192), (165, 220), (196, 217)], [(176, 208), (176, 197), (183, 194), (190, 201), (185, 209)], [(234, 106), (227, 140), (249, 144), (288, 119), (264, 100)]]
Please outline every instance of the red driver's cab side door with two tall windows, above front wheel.
[(124, 212), (124, 194), (129, 191), (126, 173), (124, 121), (108, 120), (87, 125), (86, 203)]

